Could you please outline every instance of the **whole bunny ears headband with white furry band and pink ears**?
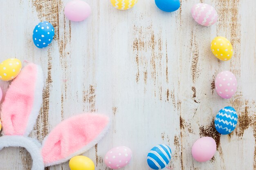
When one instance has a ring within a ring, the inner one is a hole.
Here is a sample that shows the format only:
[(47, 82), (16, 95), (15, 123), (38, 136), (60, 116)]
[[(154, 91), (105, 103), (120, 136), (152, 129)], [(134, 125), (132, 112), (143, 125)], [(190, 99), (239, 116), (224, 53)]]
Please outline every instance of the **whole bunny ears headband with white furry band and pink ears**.
[(58, 124), (41, 145), (27, 137), (33, 129), (42, 104), (43, 71), (40, 66), (28, 64), (11, 83), (2, 103), (1, 120), (4, 147), (24, 147), (30, 153), (32, 170), (63, 163), (82, 154), (105, 135), (109, 119), (104, 115), (83, 113)]

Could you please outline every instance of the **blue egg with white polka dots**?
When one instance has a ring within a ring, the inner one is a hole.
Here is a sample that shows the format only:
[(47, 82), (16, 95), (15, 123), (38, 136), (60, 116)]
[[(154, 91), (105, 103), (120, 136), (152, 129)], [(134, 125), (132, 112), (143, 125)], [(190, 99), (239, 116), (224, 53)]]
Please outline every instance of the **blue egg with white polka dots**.
[(54, 27), (49, 22), (39, 22), (33, 31), (33, 41), (36, 47), (45, 48), (51, 44), (54, 37)]

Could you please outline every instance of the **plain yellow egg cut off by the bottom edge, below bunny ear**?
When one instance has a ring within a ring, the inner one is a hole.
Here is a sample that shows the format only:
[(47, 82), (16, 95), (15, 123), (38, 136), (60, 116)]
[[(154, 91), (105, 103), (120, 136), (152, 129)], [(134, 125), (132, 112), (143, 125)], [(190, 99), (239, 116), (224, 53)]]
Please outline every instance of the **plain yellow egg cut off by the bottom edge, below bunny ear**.
[(92, 159), (85, 156), (75, 156), (70, 159), (71, 170), (95, 170)]

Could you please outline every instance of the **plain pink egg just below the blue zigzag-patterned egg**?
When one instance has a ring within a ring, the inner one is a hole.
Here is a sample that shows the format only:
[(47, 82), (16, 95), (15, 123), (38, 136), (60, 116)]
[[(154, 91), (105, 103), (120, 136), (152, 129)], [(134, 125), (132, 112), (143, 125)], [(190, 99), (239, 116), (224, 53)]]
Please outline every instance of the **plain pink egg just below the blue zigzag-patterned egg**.
[(211, 137), (202, 137), (192, 146), (192, 156), (198, 162), (209, 161), (216, 151), (216, 142)]

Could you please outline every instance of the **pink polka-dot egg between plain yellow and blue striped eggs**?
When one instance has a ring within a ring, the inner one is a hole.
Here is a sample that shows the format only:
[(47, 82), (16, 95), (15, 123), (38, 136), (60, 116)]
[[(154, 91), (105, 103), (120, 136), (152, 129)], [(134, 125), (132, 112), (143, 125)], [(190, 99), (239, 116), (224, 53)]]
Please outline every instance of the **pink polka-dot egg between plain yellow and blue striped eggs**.
[(108, 168), (119, 169), (126, 166), (132, 158), (132, 151), (126, 146), (118, 146), (110, 149), (104, 158)]

